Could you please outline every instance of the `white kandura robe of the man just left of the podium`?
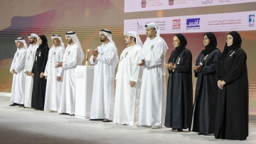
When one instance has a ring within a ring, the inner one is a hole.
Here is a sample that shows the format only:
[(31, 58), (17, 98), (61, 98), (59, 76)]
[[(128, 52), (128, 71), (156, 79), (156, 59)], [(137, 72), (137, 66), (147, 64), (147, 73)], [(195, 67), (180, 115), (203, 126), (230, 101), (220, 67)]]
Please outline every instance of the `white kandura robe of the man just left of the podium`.
[(63, 84), (59, 113), (75, 114), (75, 76), (78, 65), (79, 47), (69, 45), (63, 55)]

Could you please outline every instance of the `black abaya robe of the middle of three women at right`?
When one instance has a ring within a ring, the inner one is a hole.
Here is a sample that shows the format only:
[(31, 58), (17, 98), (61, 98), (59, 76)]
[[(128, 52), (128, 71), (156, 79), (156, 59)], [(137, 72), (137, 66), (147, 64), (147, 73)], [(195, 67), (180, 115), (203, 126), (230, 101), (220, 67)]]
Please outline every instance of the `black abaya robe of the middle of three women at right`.
[(213, 50), (208, 54), (200, 53), (196, 64), (202, 62), (201, 72), (195, 72), (196, 94), (193, 104), (191, 131), (210, 134), (214, 133), (215, 113), (217, 107), (218, 86), (215, 82), (215, 71), (220, 57), (220, 50)]

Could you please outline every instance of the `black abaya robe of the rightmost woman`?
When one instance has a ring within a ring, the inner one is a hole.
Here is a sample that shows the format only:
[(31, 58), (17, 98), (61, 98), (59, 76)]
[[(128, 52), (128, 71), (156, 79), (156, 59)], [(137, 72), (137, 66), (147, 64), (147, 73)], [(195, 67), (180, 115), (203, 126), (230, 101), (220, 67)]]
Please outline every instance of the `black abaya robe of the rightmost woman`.
[(215, 138), (245, 140), (248, 135), (249, 98), (247, 56), (242, 48), (234, 51), (225, 55), (223, 76), (217, 77), (225, 85), (218, 90)]

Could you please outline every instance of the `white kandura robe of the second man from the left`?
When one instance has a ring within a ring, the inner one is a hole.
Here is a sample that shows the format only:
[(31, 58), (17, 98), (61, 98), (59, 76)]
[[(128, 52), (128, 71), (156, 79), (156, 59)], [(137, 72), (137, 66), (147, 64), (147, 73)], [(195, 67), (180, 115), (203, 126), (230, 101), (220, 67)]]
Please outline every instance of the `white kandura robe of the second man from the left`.
[[(38, 48), (38, 44), (29, 45), (28, 50), (26, 51), (26, 62), (25, 62), (25, 70), (31, 72), (33, 67), (33, 62), (35, 61), (36, 49)], [(25, 94), (24, 94), (24, 106), (31, 107), (32, 101), (32, 90), (33, 90), (33, 78), (25, 74)]]

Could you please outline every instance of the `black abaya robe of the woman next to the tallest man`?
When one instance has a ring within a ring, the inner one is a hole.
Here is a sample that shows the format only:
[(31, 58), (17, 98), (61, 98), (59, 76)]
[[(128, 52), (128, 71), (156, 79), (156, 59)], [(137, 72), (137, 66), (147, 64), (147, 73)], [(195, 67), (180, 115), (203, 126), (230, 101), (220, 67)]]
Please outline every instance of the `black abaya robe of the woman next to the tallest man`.
[(174, 60), (174, 53), (175, 50), (171, 52), (168, 61), (176, 64), (176, 70), (169, 70), (164, 126), (190, 130), (193, 104), (192, 55), (185, 48)]

